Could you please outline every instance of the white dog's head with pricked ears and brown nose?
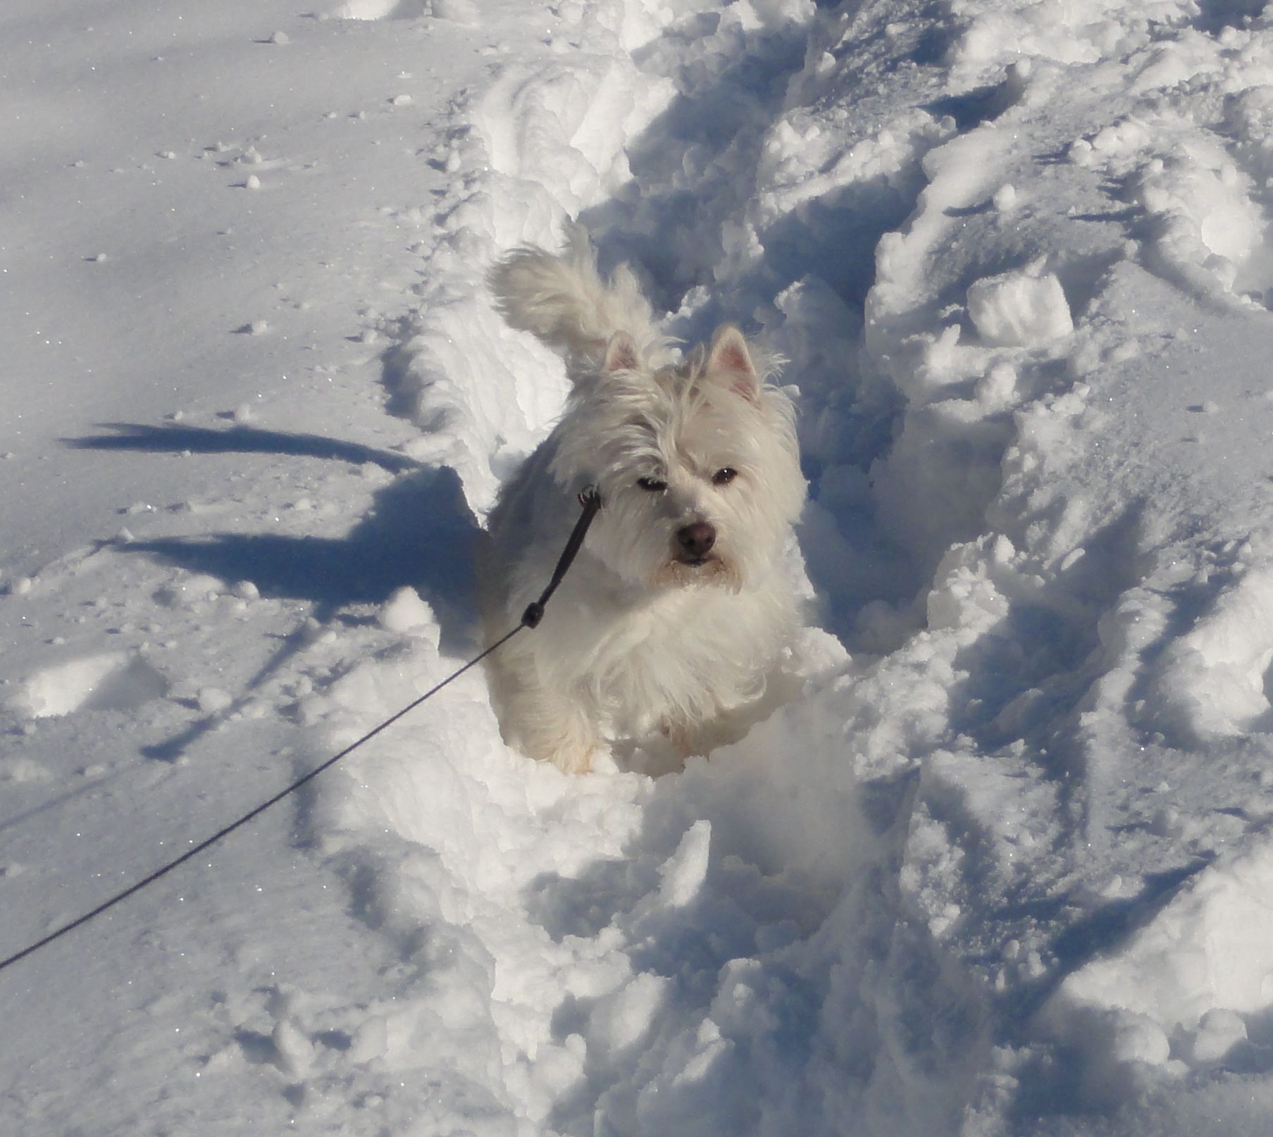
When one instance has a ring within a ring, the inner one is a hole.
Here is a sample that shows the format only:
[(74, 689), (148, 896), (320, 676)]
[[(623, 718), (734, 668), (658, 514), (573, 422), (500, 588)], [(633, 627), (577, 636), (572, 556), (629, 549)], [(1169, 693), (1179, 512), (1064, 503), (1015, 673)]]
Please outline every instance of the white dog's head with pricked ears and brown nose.
[(588, 550), (654, 587), (742, 587), (773, 563), (805, 500), (791, 402), (732, 326), (657, 371), (617, 332), (558, 425), (552, 472), (601, 490)]

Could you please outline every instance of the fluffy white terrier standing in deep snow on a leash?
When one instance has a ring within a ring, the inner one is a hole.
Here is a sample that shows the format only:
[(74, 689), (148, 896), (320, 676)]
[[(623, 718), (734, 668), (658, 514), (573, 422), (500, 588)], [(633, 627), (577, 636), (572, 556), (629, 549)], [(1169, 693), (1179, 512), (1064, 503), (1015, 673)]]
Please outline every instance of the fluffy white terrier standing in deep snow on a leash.
[(490, 514), (488, 644), (547, 583), (580, 491), (601, 494), (542, 623), (490, 657), (504, 737), (569, 773), (616, 737), (705, 754), (737, 737), (798, 629), (792, 405), (732, 325), (679, 358), (631, 271), (602, 280), (579, 229), (563, 256), (512, 252), (490, 284), (509, 325), (564, 355), (573, 390)]

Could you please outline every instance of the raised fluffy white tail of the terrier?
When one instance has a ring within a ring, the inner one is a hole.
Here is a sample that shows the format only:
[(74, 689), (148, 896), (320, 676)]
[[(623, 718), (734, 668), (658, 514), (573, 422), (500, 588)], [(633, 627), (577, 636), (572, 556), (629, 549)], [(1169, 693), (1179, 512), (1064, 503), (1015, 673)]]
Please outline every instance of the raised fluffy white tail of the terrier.
[(670, 341), (654, 323), (631, 270), (620, 265), (608, 281), (602, 280), (583, 227), (572, 225), (566, 241), (560, 256), (527, 246), (490, 270), (490, 288), (508, 323), (561, 351), (572, 379), (601, 369), (617, 331), (633, 337), (645, 365), (666, 363)]

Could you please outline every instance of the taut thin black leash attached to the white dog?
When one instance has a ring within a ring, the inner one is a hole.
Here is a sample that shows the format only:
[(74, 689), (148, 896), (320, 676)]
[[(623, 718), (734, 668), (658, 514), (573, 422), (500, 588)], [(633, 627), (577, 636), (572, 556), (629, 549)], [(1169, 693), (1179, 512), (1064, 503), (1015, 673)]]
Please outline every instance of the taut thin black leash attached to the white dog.
[(353, 754), (364, 742), (369, 742), (378, 733), (381, 733), (381, 731), (387, 730), (388, 727), (393, 726), (393, 723), (396, 723), (405, 714), (409, 714), (411, 710), (415, 710), (415, 708), (419, 707), (425, 699), (432, 699), (435, 694), (438, 694), (438, 691), (440, 691), (444, 686), (447, 686), (447, 684), (453, 682), (454, 680), (460, 679), (461, 675), (463, 675), (470, 668), (476, 667), (491, 652), (498, 651), (499, 648), (502, 648), (514, 635), (517, 635), (517, 633), (521, 632), (523, 628), (536, 628), (538, 625), (540, 620), (544, 619), (544, 607), (545, 607), (545, 605), (549, 602), (549, 600), (552, 596), (552, 593), (556, 592), (558, 584), (561, 583), (561, 578), (565, 577), (566, 570), (570, 568), (570, 564), (574, 561), (575, 555), (579, 553), (579, 546), (583, 545), (583, 539), (584, 539), (584, 536), (588, 532), (588, 526), (592, 525), (592, 519), (597, 516), (597, 511), (601, 508), (601, 494), (597, 491), (597, 488), (596, 486), (588, 486), (582, 494), (579, 494), (579, 504), (583, 507), (583, 513), (579, 516), (579, 519), (575, 522), (574, 530), (570, 532), (570, 537), (565, 542), (565, 549), (561, 550), (561, 556), (558, 560), (556, 568), (552, 570), (552, 579), (549, 581), (549, 586), (540, 595), (540, 598), (536, 600), (533, 604), (531, 604), (531, 605), (527, 606), (526, 612), (522, 615), (522, 623), (518, 624), (512, 632), (507, 633), (505, 635), (502, 635), (489, 648), (486, 648), (480, 654), (474, 656), (474, 658), (470, 660), (467, 663), (465, 663), (463, 667), (458, 668), (457, 671), (453, 671), (444, 680), (442, 680), (442, 682), (439, 682), (437, 686), (430, 688), (423, 695), (420, 695), (418, 699), (414, 699), (411, 703), (407, 703), (406, 707), (404, 707), (396, 714), (390, 716), (390, 718), (386, 718), (384, 722), (382, 722), (374, 730), (368, 731), (356, 742), (350, 742), (350, 745), (346, 746), (344, 750), (341, 750), (340, 754), (332, 755), (325, 763), (322, 763), (321, 765), (317, 765), (312, 770), (309, 770), (308, 774), (304, 774), (303, 777), (297, 778), (295, 782), (293, 782), (285, 789), (280, 789), (269, 801), (261, 802), (261, 805), (258, 805), (251, 812), (247, 812), (242, 817), (239, 817), (238, 820), (232, 821), (224, 829), (219, 829), (210, 838), (207, 838), (206, 840), (200, 842), (192, 849), (187, 849), (185, 853), (182, 853), (176, 859), (169, 861), (162, 868), (157, 868), (148, 877), (145, 877), (143, 880), (139, 880), (135, 885), (131, 885), (130, 887), (125, 889), (122, 893), (116, 894), (109, 900), (107, 900), (107, 901), (104, 901), (102, 904), (98, 904), (98, 907), (94, 908), (92, 912), (85, 912), (84, 915), (78, 917), (76, 919), (73, 919), (69, 924), (62, 924), (62, 927), (57, 928), (53, 932), (50, 932), (47, 936), (45, 936), (43, 940), (37, 940), (34, 943), (24, 947), (22, 951), (14, 952), (8, 959), (0, 960), (0, 971), (3, 971), (8, 966), (11, 966), (13, 964), (18, 963), (19, 960), (25, 959), (28, 955), (32, 955), (32, 954), (39, 951), (41, 947), (45, 947), (46, 945), (52, 943), (55, 940), (60, 940), (67, 932), (75, 931), (75, 928), (80, 927), (81, 924), (87, 924), (90, 919), (93, 919), (94, 917), (101, 915), (107, 909), (113, 908), (121, 900), (127, 900), (129, 896), (131, 896), (134, 893), (140, 893), (144, 887), (146, 887), (148, 885), (151, 885), (157, 880), (159, 880), (159, 877), (167, 876), (169, 872), (172, 872), (178, 866), (185, 865), (191, 857), (197, 857), (201, 852), (204, 852), (204, 849), (209, 848), (209, 845), (216, 844), (216, 842), (219, 842), (223, 837), (228, 837), (236, 829), (239, 829), (241, 826), (247, 825), (248, 821), (253, 820), (255, 817), (258, 817), (261, 814), (264, 814), (271, 806), (278, 805), (289, 793), (294, 793), (297, 789), (299, 789), (307, 782), (312, 782), (323, 770), (326, 770), (326, 769), (336, 765), (337, 761), (340, 761), (342, 758), (348, 758), (350, 754)]

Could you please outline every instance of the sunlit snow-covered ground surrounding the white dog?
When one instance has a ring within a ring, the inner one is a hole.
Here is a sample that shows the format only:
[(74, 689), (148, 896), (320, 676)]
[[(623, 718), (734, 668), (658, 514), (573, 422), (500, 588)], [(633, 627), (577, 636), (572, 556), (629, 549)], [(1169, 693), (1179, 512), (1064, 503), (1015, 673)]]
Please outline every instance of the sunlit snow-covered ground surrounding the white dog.
[(39, 0), (0, 89), (0, 956), (472, 654), (502, 251), (763, 335), (811, 485), (745, 740), (467, 674), (0, 973), (0, 1132), (1273, 1132), (1273, 13)]

